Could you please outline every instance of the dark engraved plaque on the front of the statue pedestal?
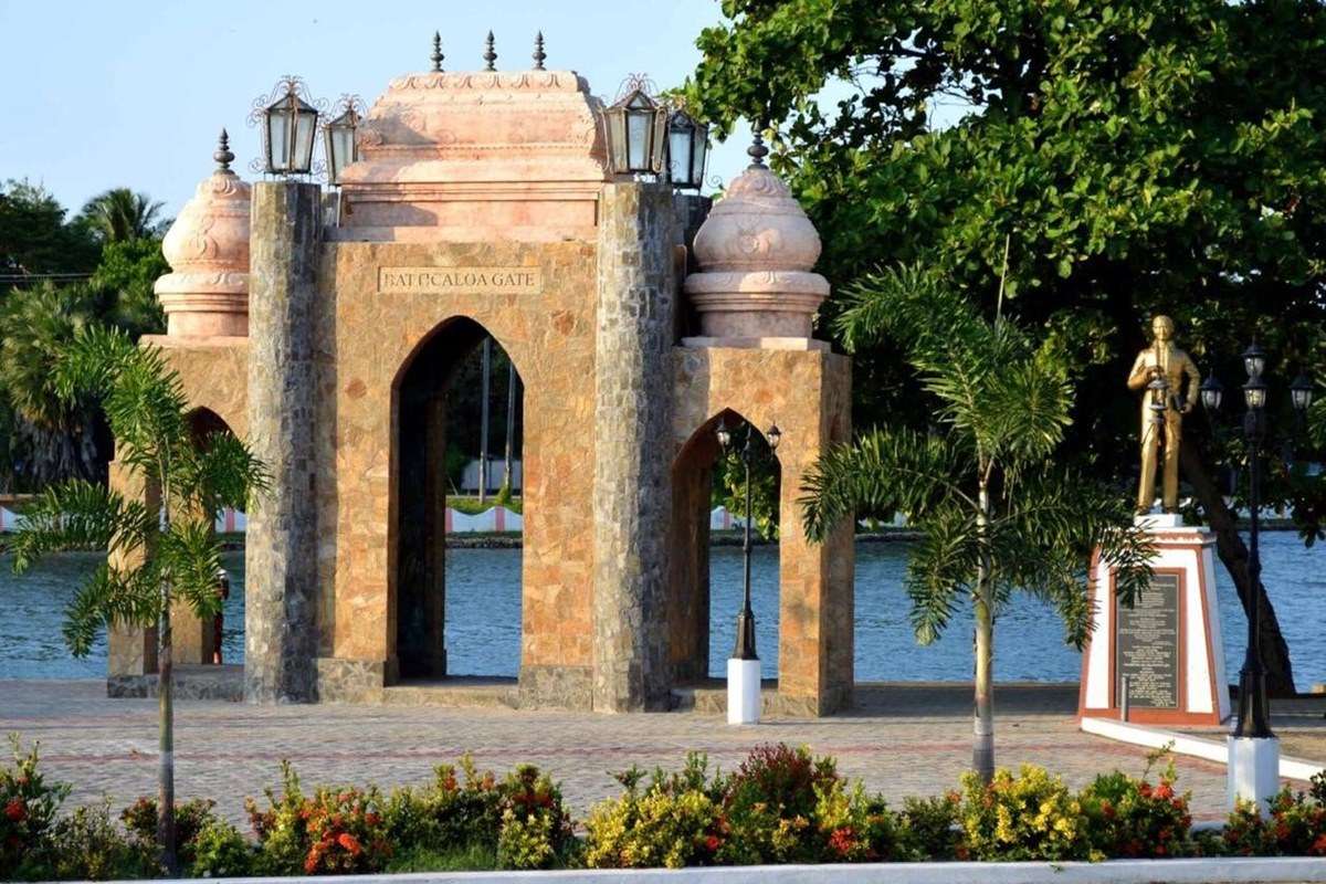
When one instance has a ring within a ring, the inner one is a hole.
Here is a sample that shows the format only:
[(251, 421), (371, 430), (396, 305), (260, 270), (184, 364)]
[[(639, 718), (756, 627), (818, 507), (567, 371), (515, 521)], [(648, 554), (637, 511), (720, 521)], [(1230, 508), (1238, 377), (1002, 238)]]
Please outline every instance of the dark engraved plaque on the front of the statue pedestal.
[(1115, 679), (1128, 705), (1146, 709), (1179, 708), (1179, 591), (1177, 574), (1155, 574), (1132, 607), (1115, 602)]

